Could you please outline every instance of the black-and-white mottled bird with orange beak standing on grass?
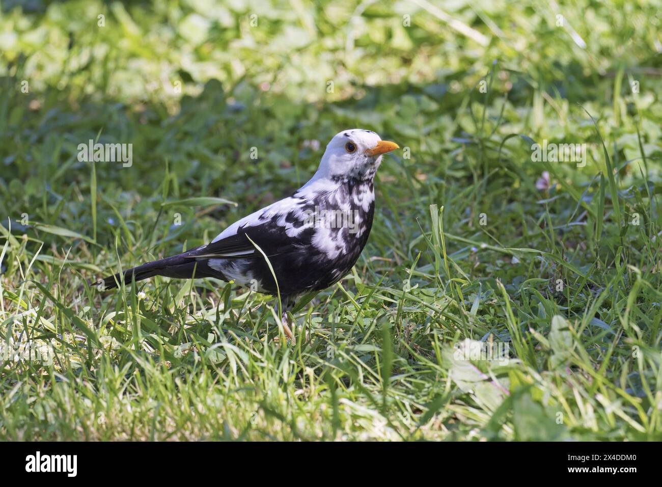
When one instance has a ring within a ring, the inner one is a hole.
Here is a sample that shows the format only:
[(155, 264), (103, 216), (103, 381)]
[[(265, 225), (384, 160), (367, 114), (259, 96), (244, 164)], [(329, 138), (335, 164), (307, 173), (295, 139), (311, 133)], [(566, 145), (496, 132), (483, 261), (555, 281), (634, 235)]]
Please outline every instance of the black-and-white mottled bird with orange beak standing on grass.
[(358, 260), (375, 214), (375, 174), (383, 155), (398, 148), (373, 131), (342, 131), (291, 196), (236, 221), (210, 243), (95, 284), (105, 291), (152, 276), (234, 282), (279, 296), (283, 330), (292, 339), (287, 313), (297, 300), (333, 286)]

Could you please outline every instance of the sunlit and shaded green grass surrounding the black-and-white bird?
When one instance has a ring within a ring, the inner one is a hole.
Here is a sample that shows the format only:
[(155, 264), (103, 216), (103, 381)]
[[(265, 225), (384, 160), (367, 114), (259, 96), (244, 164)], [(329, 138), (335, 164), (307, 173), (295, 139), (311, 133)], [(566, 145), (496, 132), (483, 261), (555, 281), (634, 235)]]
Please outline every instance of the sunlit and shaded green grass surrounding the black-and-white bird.
[[(418, 1), (15, 4), (0, 439), (662, 439), (659, 5), (444, 4), (483, 45)], [(403, 150), (295, 343), (232, 284), (88, 284), (288, 195), (352, 127)], [(132, 166), (79, 162), (89, 139)], [(536, 162), (544, 139), (586, 165)], [(463, 360), (465, 339), (511, 358)]]

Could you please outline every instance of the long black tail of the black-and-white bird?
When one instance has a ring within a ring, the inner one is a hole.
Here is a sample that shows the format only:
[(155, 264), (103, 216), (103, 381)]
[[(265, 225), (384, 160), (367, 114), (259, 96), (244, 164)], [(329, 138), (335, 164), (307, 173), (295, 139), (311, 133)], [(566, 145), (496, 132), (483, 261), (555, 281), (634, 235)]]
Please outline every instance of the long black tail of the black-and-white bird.
[(206, 260), (195, 260), (195, 258), (185, 257), (189, 256), (189, 252), (183, 254), (173, 255), (171, 257), (162, 258), (161, 260), (153, 260), (125, 270), (124, 273), (113, 274), (103, 278), (97, 282), (97, 286), (103, 282), (103, 290), (115, 289), (124, 281), (126, 286), (131, 285), (131, 281), (142, 281), (143, 279), (151, 278), (152, 276), (166, 276), (168, 278), (177, 279), (192, 279), (192, 278), (222, 278), (218, 272), (214, 272), (212, 268), (207, 265)]

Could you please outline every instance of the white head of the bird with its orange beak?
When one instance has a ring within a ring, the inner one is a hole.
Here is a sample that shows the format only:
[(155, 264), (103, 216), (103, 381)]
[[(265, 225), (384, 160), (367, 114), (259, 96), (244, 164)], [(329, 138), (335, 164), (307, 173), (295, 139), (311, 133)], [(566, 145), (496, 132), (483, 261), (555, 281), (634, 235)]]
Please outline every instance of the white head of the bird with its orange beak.
[(382, 155), (397, 148), (398, 144), (381, 140), (372, 131), (350, 129), (339, 132), (326, 145), (313, 179), (372, 180)]

